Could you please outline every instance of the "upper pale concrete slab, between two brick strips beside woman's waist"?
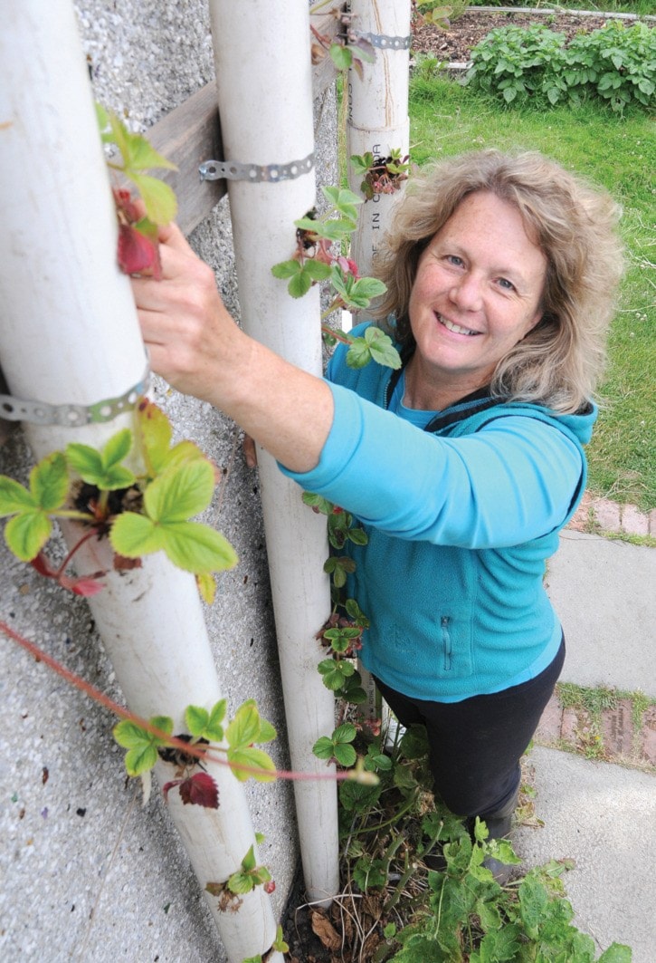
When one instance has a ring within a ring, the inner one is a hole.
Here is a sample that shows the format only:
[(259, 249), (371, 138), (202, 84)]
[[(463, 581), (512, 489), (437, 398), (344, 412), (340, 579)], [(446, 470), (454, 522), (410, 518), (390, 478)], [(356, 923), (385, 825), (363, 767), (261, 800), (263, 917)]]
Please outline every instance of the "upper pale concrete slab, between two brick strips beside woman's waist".
[(656, 549), (567, 530), (545, 585), (565, 629), (561, 681), (656, 697)]

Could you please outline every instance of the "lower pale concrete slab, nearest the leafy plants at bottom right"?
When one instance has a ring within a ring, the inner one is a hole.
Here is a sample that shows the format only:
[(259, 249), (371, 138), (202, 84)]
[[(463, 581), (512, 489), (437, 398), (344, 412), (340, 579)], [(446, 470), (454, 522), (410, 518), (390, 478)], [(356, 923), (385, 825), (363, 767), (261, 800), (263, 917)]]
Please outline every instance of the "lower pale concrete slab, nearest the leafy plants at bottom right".
[(564, 882), (574, 924), (599, 952), (615, 942), (631, 947), (633, 963), (654, 963), (656, 776), (540, 746), (528, 766), (544, 825), (517, 827), (525, 867), (573, 859)]

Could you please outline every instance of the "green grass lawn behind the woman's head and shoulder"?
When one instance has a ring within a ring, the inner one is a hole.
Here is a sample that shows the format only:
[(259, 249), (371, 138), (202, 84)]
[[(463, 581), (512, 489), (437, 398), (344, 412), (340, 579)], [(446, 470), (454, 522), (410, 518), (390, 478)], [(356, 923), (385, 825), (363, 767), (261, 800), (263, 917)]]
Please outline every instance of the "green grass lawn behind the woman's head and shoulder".
[[(652, 4), (653, 6), (653, 4)], [(426, 65), (429, 67), (429, 65)], [(656, 507), (656, 138), (645, 114), (603, 107), (509, 110), (435, 70), (411, 81), (411, 158), (421, 166), (483, 147), (541, 150), (622, 205), (628, 270), (609, 338), (601, 411), (588, 449), (595, 495)]]

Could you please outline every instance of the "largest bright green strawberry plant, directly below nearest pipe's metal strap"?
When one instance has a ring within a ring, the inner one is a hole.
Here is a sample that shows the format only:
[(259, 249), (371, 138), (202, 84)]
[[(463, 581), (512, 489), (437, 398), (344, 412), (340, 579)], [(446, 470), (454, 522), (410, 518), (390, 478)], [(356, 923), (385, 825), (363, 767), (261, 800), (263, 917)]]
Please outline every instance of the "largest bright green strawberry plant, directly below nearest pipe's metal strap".
[[(0, 476), (0, 516), (10, 517), (5, 540), (13, 555), (64, 587), (89, 595), (102, 587), (98, 580), (106, 573), (75, 580), (65, 575), (65, 566), (89, 537), (107, 536), (115, 568), (139, 565), (142, 556), (164, 551), (174, 564), (195, 573), (203, 597), (211, 602), (212, 573), (231, 568), (237, 556), (223, 535), (189, 521), (212, 500), (214, 465), (192, 442), (171, 447), (171, 436), (164, 412), (142, 399), (136, 430), (120, 429), (101, 450), (71, 442), (64, 452), (41, 458), (29, 487)], [(132, 467), (126, 464), (129, 458)], [(56, 518), (81, 523), (83, 535), (63, 566), (53, 571), (42, 549)]]

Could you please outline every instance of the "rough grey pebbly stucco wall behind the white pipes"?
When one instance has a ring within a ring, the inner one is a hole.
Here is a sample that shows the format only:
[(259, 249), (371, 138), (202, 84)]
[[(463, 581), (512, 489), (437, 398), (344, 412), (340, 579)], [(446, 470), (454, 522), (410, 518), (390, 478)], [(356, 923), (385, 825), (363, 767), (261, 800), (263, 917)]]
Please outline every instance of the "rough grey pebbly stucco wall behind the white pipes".
[[(134, 129), (146, 130), (213, 79), (204, 0), (81, 0), (76, 10), (96, 97)], [(318, 175), (335, 183), (334, 91), (315, 105), (315, 117)], [(239, 317), (227, 199), (190, 240)], [(239, 430), (209, 405), (161, 381), (155, 400), (176, 434), (196, 441), (221, 468), (205, 520), (229, 538), (240, 563), (219, 577), (214, 606), (206, 609), (214, 656), (231, 708), (257, 699), (279, 732), (272, 755), (287, 767), (257, 471), (244, 465)], [(26, 481), (31, 464), (22, 433), (13, 431), (0, 449), (0, 472)], [(0, 567), (1, 617), (121, 701), (84, 600), (13, 560), (4, 541)], [(126, 783), (113, 724), (110, 713), (0, 637), (3, 960), (225, 958), (159, 794), (141, 808), (139, 786)], [(255, 827), (265, 834), (261, 855), (277, 882), (279, 915), (297, 864), (291, 789), (249, 783), (246, 792)]]

